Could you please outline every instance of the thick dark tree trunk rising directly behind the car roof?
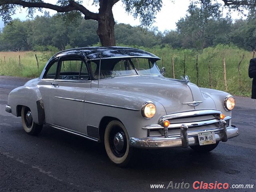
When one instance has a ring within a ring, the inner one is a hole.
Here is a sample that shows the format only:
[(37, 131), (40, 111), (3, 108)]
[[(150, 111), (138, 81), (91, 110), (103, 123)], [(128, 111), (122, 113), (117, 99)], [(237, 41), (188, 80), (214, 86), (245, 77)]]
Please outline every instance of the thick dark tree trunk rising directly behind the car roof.
[(108, 1), (109, 0), (100, 0), (97, 34), (102, 46), (116, 46), (114, 33), (114, 25), (116, 22), (112, 12), (113, 5)]

